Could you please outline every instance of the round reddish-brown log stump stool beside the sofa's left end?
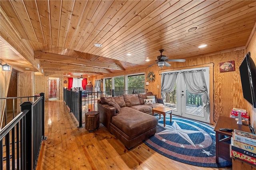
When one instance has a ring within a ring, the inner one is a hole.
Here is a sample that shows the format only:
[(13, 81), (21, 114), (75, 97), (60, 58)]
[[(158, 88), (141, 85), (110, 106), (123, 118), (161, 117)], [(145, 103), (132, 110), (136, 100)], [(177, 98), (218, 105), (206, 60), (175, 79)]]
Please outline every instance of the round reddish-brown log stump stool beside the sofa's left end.
[(88, 131), (98, 129), (100, 127), (100, 112), (99, 111), (86, 112), (84, 127)]

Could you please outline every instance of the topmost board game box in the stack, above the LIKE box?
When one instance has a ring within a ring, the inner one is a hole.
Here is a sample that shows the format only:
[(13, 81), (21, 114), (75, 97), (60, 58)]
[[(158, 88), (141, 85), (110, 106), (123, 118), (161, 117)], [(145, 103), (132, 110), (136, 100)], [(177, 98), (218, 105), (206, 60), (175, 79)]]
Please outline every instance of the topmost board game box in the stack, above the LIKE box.
[(233, 137), (235, 141), (240, 141), (242, 143), (247, 143), (249, 145), (256, 146), (256, 135), (253, 133), (248, 133), (234, 129)]

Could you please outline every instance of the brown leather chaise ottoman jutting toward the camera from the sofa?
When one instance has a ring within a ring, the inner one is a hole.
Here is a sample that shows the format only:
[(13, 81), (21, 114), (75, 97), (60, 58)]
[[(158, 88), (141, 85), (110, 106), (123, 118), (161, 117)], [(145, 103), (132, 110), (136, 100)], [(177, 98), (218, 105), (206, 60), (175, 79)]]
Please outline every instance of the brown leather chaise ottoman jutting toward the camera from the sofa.
[(114, 134), (130, 150), (144, 139), (156, 133), (158, 119), (130, 107), (122, 107), (119, 114), (112, 117), (110, 133)]

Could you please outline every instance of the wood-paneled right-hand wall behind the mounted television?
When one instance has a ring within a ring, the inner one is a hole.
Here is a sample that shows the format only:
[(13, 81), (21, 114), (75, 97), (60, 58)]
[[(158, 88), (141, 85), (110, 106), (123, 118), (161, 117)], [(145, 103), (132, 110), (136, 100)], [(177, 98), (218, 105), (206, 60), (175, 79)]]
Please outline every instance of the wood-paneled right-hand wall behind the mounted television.
[[(251, 57), (256, 64), (256, 24), (254, 25), (254, 33), (252, 34), (252, 39), (248, 42), (248, 47), (246, 48), (246, 53), (250, 52)], [(245, 54), (244, 54), (245, 55)], [(246, 100), (244, 100), (244, 108), (250, 113), (250, 121), (254, 129), (256, 128), (256, 108), (252, 107)]]

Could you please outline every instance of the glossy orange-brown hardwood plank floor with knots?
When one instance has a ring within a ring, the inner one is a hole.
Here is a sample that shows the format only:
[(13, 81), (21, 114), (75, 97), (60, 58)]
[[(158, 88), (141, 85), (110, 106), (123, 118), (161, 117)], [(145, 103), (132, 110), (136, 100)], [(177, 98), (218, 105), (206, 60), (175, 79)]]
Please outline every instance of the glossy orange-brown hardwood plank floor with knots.
[(162, 156), (144, 143), (132, 150), (100, 124), (94, 132), (78, 129), (78, 122), (61, 100), (45, 103), (45, 136), (36, 170), (231, 170), (203, 168)]

